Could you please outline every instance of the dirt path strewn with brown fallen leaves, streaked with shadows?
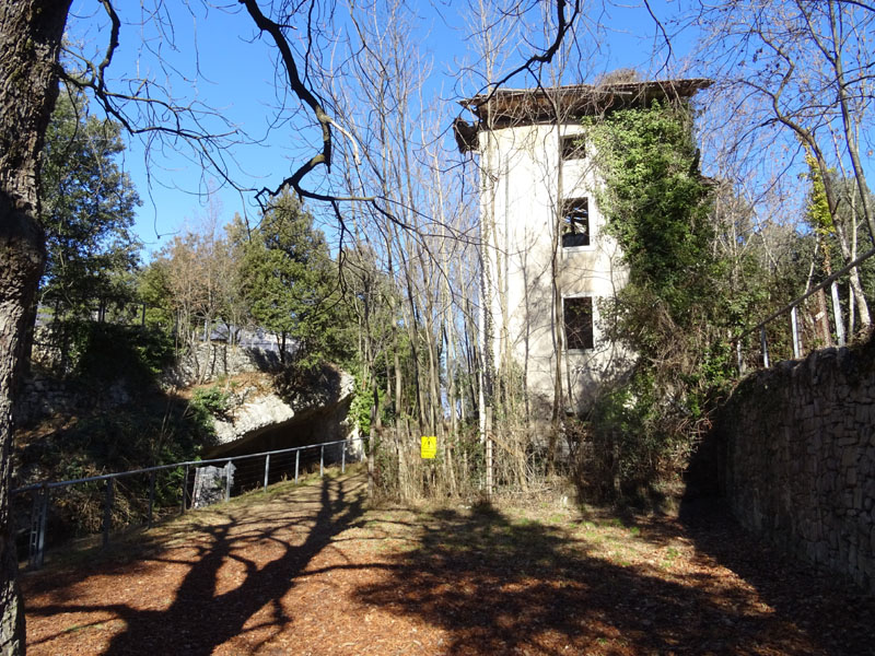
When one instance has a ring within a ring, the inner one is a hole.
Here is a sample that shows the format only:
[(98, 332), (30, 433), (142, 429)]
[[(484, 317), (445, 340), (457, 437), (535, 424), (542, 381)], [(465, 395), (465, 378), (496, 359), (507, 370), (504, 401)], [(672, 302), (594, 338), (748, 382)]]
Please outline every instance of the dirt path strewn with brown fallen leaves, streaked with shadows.
[(361, 475), (24, 576), (28, 654), (875, 654), (875, 600), (730, 523), (366, 511)]

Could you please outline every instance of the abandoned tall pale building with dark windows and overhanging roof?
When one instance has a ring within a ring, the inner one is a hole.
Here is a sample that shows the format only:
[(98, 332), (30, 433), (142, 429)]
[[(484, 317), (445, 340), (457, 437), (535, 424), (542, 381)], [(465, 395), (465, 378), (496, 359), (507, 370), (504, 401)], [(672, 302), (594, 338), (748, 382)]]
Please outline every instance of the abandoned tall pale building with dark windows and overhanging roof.
[(602, 184), (581, 119), (660, 101), (686, 102), (710, 80), (500, 89), (463, 102), (463, 152), (478, 155), (481, 339), (497, 371), (527, 390), (534, 417), (586, 410), (595, 386), (629, 354), (603, 337), (599, 298), (627, 280), (604, 231)]

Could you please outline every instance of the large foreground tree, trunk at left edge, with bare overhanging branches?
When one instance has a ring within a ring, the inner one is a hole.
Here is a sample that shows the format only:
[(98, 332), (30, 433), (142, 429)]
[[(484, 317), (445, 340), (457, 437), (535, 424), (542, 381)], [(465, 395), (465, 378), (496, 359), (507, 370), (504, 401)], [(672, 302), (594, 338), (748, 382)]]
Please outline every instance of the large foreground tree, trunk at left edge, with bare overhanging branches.
[[(147, 4), (133, 7), (132, 11), (141, 16), (138, 21), (141, 24), (149, 23), (159, 35), (159, 40), (172, 42), (173, 27), (165, 3), (154, 0)], [(576, 1), (569, 4), (568, 0), (556, 0), (555, 4), (550, 4), (555, 5), (559, 19), (556, 37), (546, 49), (537, 49), (518, 70), (530, 70), (550, 61), (573, 26), (579, 5)], [(319, 25), (331, 20), (335, 2), (277, 2), (269, 5), (272, 13), (266, 13), (267, 10), (256, 0), (240, 0), (240, 5), (249, 19), (241, 23), (242, 28), (244, 25), (254, 25), (257, 36), (265, 37), (268, 46), (278, 54), (280, 86), (288, 90), (288, 94), (281, 92), (278, 95), (289, 101), (289, 106), (281, 107), (281, 110), (302, 107), (303, 116), (308, 117), (310, 125), (317, 133), (313, 150), (303, 156), (302, 162), (275, 187), (261, 189), (259, 196), (266, 200), (271, 194), (291, 187), (304, 198), (325, 201), (335, 212), (342, 231), (346, 226), (339, 203), (350, 198), (341, 198), (332, 192), (331, 185), (326, 180), (332, 173), (337, 149), (335, 136), (340, 134), (343, 141), (349, 138), (350, 130), (340, 126), (313, 84), (318, 57), (330, 50), (327, 47), (330, 39), (319, 32)], [(70, 47), (65, 58), (66, 68), (62, 69), (59, 54), (70, 2), (0, 2), (0, 70), (4, 79), (0, 90), (0, 139), (3, 140), (0, 148), (0, 652), (9, 654), (24, 651), (23, 616), (15, 588), (16, 562), (9, 523), (12, 395), (28, 312), (45, 261), (43, 230), (38, 220), (38, 153), (58, 93), (59, 78), (62, 77), (71, 86), (89, 92), (105, 113), (129, 132), (140, 134), (152, 144), (160, 144), (162, 139), (170, 139), (174, 144), (190, 144), (196, 160), (212, 167), (223, 181), (241, 190), (246, 189), (245, 185), (232, 178), (228, 160), (233, 156), (229, 149), (246, 139), (245, 133), (236, 126), (212, 129), (211, 126), (221, 125), (219, 113), (190, 99), (174, 97), (170, 92), (171, 85), (160, 80), (137, 80), (129, 75), (127, 79), (126, 75), (114, 78), (113, 62), (121, 38), (127, 36), (122, 34), (126, 23), (119, 15), (122, 5), (113, 0), (101, 0), (98, 7), (107, 24), (103, 33), (105, 44), (97, 52)], [(569, 7), (573, 11), (569, 12)], [(125, 9), (129, 10), (127, 7)], [(151, 46), (144, 47), (148, 49)], [(160, 52), (155, 54), (160, 56)], [(171, 66), (163, 70), (171, 77), (174, 74)], [(513, 72), (505, 75), (504, 80), (510, 79)], [(279, 122), (282, 124), (281, 120)], [(401, 156), (409, 157), (410, 150), (407, 144), (402, 145)], [(408, 225), (396, 212), (387, 210), (389, 206), (398, 206), (398, 201), (386, 192), (407, 187), (407, 196), (412, 199), (415, 195), (409, 189), (415, 180), (399, 178), (396, 171), (388, 173), (392, 176), (384, 178), (385, 186), (378, 187), (383, 192), (381, 196), (357, 195), (354, 199), (371, 203), (376, 214), (392, 225), (385, 233), (385, 237), (392, 242), (398, 238), (397, 231)], [(402, 183), (402, 187), (395, 186), (398, 181)], [(326, 184), (320, 186), (323, 183)], [(407, 216), (422, 212), (422, 208), (416, 204), (408, 206), (408, 210)], [(405, 276), (412, 280), (424, 254), (424, 248), (422, 251), (405, 249), (405, 259), (400, 262)], [(418, 318), (417, 312), (416, 304), (411, 303), (408, 314), (411, 326)], [(411, 335), (417, 335), (417, 331), (413, 330)], [(434, 360), (434, 352), (431, 354)], [(418, 363), (418, 359), (415, 358), (415, 362)], [(418, 374), (416, 378), (419, 380)], [(399, 394), (400, 390), (396, 389), (396, 395)]]

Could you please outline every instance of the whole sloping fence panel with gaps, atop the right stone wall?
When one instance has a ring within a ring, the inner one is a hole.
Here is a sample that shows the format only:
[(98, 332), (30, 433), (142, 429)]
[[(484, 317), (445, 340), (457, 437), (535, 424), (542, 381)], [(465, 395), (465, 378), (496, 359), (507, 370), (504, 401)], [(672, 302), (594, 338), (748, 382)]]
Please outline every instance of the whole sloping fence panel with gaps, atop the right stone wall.
[[(860, 265), (873, 256), (875, 248), (737, 336), (735, 350), (739, 373), (750, 367), (768, 368), (780, 359), (800, 360), (815, 349), (845, 345), (849, 339), (845, 315), (852, 312), (854, 300), (850, 285), (847, 297), (840, 297), (840, 283), (854, 269), (860, 271)], [(809, 304), (814, 307), (807, 307)], [(777, 321), (780, 318), (789, 319), (789, 326), (781, 327)]]

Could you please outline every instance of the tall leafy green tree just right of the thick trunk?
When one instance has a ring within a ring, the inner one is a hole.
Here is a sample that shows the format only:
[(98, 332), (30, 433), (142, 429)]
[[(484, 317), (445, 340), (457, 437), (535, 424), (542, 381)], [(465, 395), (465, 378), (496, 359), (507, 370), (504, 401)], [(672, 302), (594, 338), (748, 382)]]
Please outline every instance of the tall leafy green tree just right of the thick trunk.
[(118, 124), (88, 116), (85, 97), (61, 90), (39, 189), (48, 251), (40, 300), (56, 318), (133, 300), (140, 244), (131, 227), (140, 199), (116, 162), (124, 150)]

